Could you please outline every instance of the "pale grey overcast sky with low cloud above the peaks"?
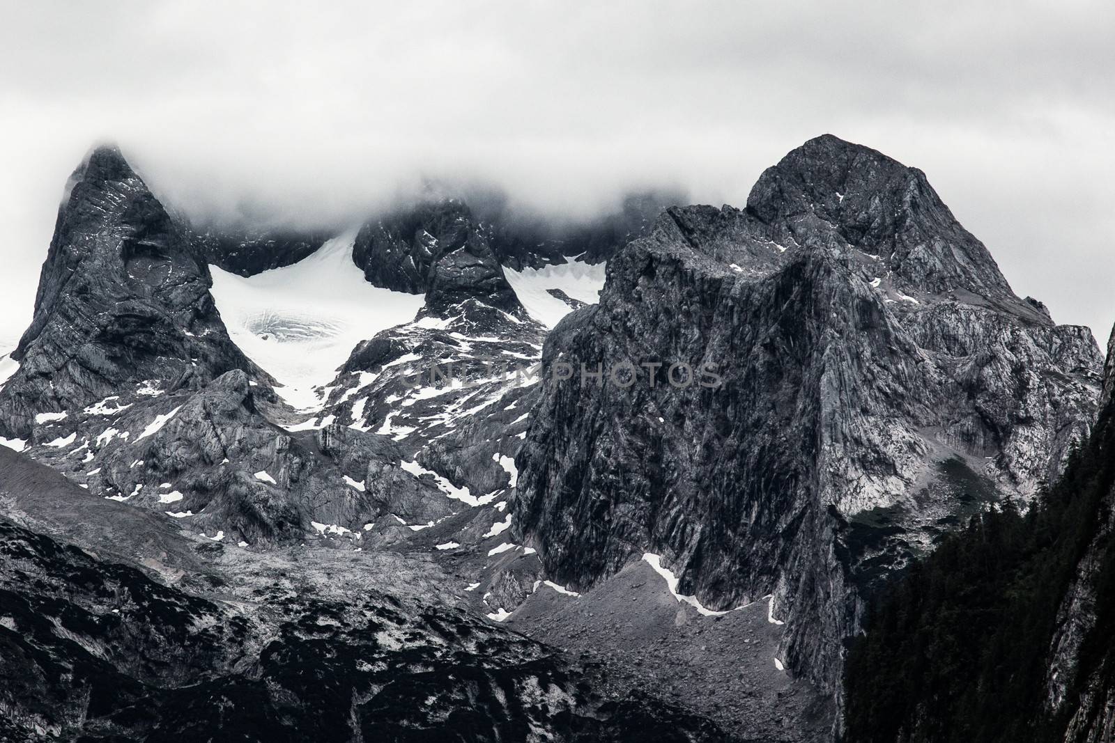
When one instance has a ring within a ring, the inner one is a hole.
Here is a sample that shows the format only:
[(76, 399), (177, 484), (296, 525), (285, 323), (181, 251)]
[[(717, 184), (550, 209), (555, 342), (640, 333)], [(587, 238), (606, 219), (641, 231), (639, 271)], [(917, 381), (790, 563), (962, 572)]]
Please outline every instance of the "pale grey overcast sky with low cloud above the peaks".
[(1056, 321), (1115, 322), (1115, 3), (319, 4), (0, 0), (0, 342), (105, 139), (181, 207), (320, 221), (423, 176), (741, 206), (828, 131), (923, 169)]

